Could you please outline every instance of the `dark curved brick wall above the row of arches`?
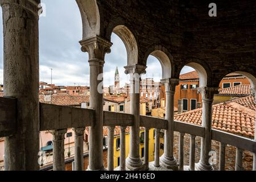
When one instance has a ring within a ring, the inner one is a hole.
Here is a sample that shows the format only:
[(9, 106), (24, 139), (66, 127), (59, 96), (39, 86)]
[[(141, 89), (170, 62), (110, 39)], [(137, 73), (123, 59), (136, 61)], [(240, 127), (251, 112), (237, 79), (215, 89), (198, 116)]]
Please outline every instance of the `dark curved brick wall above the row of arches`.
[(154, 45), (173, 56), (172, 76), (189, 62), (201, 64), (208, 85), (218, 86), (234, 71), (256, 76), (256, 2), (214, 1), (217, 17), (209, 17), (211, 1), (97, 0), (101, 36), (110, 39), (113, 28), (125, 25), (138, 43), (139, 63), (146, 64)]

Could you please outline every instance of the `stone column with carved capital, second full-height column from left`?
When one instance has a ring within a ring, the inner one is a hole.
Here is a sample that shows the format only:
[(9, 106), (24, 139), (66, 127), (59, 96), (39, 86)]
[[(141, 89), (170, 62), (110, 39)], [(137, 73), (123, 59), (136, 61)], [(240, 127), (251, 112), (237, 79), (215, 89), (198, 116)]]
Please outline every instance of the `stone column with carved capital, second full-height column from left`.
[(88, 171), (105, 170), (103, 165), (103, 66), (105, 53), (110, 53), (112, 43), (95, 36), (80, 42), (83, 52), (89, 54), (90, 109), (95, 110), (93, 125), (89, 127)]

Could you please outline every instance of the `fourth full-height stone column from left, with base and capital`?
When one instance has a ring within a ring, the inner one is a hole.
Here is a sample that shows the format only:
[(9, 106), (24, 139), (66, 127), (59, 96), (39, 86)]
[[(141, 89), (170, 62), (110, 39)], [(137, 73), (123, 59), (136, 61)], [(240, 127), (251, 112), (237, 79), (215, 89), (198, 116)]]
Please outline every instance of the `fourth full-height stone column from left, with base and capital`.
[(166, 168), (177, 170), (177, 161), (174, 157), (174, 93), (179, 79), (169, 78), (161, 80), (166, 88), (166, 120), (168, 121), (168, 130), (164, 131), (164, 154), (160, 162)]

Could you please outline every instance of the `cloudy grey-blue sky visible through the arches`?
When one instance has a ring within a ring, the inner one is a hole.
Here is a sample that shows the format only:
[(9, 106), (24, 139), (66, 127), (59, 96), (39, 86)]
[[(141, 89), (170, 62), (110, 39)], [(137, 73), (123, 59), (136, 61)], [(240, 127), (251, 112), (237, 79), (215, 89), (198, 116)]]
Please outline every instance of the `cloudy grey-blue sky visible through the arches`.
[[(89, 85), (89, 63), (87, 53), (81, 52), (79, 41), (82, 39), (81, 15), (73, 0), (42, 0), (45, 13), (39, 20), (39, 57), (40, 81), (56, 85)], [(45, 16), (44, 16), (45, 15)], [(2, 10), (0, 10), (0, 84), (3, 83), (3, 30)], [(112, 52), (105, 57), (104, 86), (114, 84), (115, 68), (118, 67), (121, 86), (129, 81), (123, 68), (127, 65), (125, 45), (115, 34), (112, 35)], [(148, 57), (147, 75), (160, 81), (162, 73), (159, 61)], [(181, 73), (192, 71), (184, 68)]]

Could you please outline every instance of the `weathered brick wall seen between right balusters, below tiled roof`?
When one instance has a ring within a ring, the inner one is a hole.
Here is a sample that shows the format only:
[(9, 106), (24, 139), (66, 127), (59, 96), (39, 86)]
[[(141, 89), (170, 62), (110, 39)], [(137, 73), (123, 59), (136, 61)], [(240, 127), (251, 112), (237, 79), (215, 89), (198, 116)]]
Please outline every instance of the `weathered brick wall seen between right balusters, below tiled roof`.
[[(179, 133), (175, 132), (174, 136), (174, 155), (176, 159), (179, 159)], [(190, 135), (186, 134), (184, 137), (184, 165), (189, 166), (189, 146), (190, 146)], [(200, 147), (201, 147), (201, 138), (196, 137), (196, 156), (195, 162), (198, 163), (200, 160)], [(212, 150), (216, 151), (217, 154), (217, 164), (214, 165), (214, 169), (218, 170), (218, 159), (219, 159), (219, 148), (220, 143), (216, 141), (212, 141)], [(246, 171), (251, 171), (253, 169), (253, 154), (248, 151), (243, 152), (243, 168)], [(236, 164), (236, 147), (226, 146), (226, 154), (225, 154), (225, 170), (234, 171), (234, 167)]]

